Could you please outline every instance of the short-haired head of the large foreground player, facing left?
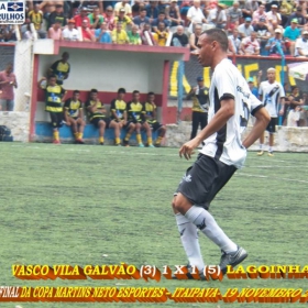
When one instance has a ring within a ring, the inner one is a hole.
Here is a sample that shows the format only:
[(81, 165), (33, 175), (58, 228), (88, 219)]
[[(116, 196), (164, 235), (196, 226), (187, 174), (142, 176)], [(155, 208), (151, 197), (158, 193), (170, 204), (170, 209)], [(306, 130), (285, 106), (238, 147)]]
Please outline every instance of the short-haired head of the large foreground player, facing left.
[(205, 67), (212, 66), (217, 57), (227, 54), (227, 34), (220, 29), (206, 30), (198, 40), (198, 46), (200, 48), (199, 63)]

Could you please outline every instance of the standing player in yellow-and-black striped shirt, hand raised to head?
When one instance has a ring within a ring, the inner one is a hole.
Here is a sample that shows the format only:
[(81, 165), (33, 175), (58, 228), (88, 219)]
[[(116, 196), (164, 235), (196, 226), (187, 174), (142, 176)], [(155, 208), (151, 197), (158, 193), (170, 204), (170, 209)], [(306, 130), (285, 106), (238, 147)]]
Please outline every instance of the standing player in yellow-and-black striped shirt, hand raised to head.
[(64, 100), (66, 91), (61, 85), (57, 85), (55, 75), (50, 76), (47, 84), (43, 84), (43, 81), (46, 81), (46, 77), (41, 78), (38, 81), (38, 87), (45, 91), (45, 110), (51, 114), (54, 136), (53, 143), (61, 144), (58, 129), (63, 127), (62, 101)]

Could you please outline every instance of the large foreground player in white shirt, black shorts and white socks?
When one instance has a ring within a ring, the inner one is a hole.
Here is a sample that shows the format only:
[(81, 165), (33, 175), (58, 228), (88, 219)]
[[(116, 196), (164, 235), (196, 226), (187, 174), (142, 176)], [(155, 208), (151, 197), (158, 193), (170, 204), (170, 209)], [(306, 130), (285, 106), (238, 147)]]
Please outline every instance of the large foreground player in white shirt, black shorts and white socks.
[[(228, 37), (222, 30), (205, 31), (198, 46), (199, 63), (204, 67), (210, 66), (213, 72), (208, 125), (179, 150), (179, 156), (189, 160), (194, 150), (205, 142), (197, 162), (187, 169), (174, 195), (173, 209), (189, 264), (199, 271), (202, 279), (205, 263), (197, 228), (222, 251), (222, 273), (227, 272), (227, 265), (235, 266), (248, 256), (244, 249), (228, 238), (208, 209), (217, 193), (244, 164), (246, 148), (260, 138), (270, 116), (262, 102), (251, 94), (238, 68), (228, 59)], [(248, 125), (249, 113), (256, 120), (242, 142), (241, 133)], [(187, 277), (193, 278), (189, 272)]]

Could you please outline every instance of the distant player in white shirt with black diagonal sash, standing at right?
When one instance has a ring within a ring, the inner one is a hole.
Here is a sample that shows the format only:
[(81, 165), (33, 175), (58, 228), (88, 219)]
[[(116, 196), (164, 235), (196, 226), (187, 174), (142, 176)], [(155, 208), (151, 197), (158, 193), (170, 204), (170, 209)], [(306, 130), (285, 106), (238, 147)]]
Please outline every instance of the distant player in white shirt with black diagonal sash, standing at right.
[[(273, 154), (273, 145), (274, 145), (274, 133), (276, 132), (276, 125), (278, 124), (278, 107), (280, 105), (279, 116), (284, 114), (285, 108), (285, 90), (284, 87), (275, 80), (276, 78), (276, 69), (270, 67), (267, 69), (267, 80), (262, 81), (258, 88), (258, 98), (262, 100), (266, 110), (271, 116), (271, 122), (268, 123), (266, 131), (270, 134), (268, 140), (268, 156), (274, 156)], [(262, 156), (264, 147), (264, 132), (260, 136), (260, 150), (257, 152), (257, 156)]]

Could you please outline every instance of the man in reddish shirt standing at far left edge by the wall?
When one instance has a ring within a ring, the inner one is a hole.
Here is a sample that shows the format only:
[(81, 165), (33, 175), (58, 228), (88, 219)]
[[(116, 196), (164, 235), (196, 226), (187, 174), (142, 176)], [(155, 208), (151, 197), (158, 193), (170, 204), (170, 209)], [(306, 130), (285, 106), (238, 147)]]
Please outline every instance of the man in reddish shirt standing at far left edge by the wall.
[(0, 72), (0, 107), (2, 111), (14, 110), (14, 89), (18, 88), (16, 76), (13, 73), (13, 65), (8, 64), (6, 69)]

